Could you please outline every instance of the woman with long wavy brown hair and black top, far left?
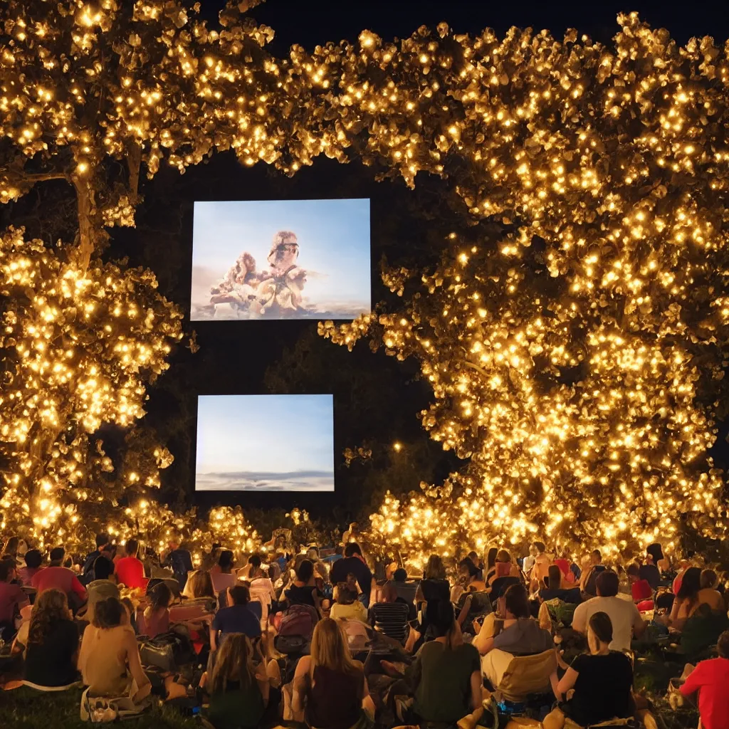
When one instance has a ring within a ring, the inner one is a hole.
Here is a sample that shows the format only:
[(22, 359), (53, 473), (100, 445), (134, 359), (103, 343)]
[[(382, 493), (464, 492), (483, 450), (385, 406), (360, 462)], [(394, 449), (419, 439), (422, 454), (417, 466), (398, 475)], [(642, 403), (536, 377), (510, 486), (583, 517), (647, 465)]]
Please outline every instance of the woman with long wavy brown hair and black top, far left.
[(68, 686), (78, 680), (79, 631), (61, 590), (37, 597), (28, 628), (25, 679), (39, 686)]

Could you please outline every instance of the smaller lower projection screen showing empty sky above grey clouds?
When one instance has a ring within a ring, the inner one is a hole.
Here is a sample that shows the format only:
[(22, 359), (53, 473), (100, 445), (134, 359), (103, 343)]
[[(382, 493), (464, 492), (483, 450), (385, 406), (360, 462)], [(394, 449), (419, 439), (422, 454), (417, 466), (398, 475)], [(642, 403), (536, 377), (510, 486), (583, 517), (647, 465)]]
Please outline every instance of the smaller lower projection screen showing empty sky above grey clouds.
[(195, 491), (334, 491), (332, 395), (200, 395)]

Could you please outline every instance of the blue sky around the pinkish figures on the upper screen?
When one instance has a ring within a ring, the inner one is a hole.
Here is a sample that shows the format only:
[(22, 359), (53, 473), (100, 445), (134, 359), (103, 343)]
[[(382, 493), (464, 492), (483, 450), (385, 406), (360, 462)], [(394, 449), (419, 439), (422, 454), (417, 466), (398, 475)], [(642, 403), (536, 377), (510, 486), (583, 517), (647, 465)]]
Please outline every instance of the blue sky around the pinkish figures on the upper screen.
[[(321, 274), (308, 278), (312, 300), (370, 303), (370, 200), (226, 200), (196, 202), (192, 268), (220, 276), (242, 252), (268, 268), (278, 230), (296, 233), (298, 265)], [(193, 288), (195, 281), (193, 281)]]

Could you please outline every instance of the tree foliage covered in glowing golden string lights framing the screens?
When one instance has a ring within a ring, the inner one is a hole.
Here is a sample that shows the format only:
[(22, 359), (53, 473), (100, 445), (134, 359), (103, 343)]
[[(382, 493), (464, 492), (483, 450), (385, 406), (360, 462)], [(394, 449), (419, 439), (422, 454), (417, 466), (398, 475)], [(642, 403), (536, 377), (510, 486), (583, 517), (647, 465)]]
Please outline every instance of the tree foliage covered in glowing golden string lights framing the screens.
[[(441, 24), (276, 59), (273, 31), (241, 18), (253, 4), (229, 3), (219, 31), (174, 0), (137, 1), (133, 26), (117, 0), (0, 10), (0, 134), (15, 154), (0, 201), (67, 179), (85, 251), (66, 265), (22, 233), (2, 239), (5, 523), (62, 537), (87, 504), (114, 503), (88, 435), (142, 415), (179, 313), (151, 274), (109, 272), (93, 253), (104, 227), (133, 225), (141, 165), (182, 172), (231, 149), (285, 174), (324, 154), (410, 185), (443, 176), (469, 222), (504, 226), (498, 246), (453, 233), (434, 272), (386, 273), (402, 311), (320, 326), (349, 348), (372, 335), (416, 357), (434, 394), (423, 425), (468, 461), (440, 488), (388, 496), (375, 545), (420, 559), (536, 534), (616, 551), (675, 546), (684, 526), (722, 534), (723, 477), (707, 451), (729, 360), (726, 48), (679, 48), (631, 14), (614, 47)], [(109, 178), (109, 157), (128, 182)], [(143, 471), (125, 479), (154, 486)], [(130, 509), (132, 521), (144, 511)]]

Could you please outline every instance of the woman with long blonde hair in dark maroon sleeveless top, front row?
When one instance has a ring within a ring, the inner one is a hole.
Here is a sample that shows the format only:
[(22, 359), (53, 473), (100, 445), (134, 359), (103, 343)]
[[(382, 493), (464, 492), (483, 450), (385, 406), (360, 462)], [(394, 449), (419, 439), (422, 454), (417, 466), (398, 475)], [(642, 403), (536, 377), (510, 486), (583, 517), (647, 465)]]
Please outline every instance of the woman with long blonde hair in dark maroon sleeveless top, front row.
[(336, 620), (319, 620), (311, 638), (311, 655), (299, 660), (294, 674), (292, 709), (296, 721), (317, 729), (348, 729), (370, 725), (375, 704), (364, 668), (349, 655)]

